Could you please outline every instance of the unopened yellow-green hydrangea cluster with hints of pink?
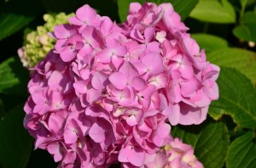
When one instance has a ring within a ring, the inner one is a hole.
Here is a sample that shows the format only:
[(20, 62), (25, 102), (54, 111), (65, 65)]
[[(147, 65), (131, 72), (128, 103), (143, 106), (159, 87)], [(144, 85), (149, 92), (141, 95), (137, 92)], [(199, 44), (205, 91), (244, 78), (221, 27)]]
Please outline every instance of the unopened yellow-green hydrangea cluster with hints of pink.
[(54, 31), (55, 25), (67, 23), (67, 19), (74, 14), (44, 14), (44, 25), (37, 27), (37, 31), (29, 32), (24, 39), (24, 46), (19, 48), (20, 60), (26, 68), (32, 68), (49, 50), (54, 48), (55, 39), (47, 35), (49, 31)]

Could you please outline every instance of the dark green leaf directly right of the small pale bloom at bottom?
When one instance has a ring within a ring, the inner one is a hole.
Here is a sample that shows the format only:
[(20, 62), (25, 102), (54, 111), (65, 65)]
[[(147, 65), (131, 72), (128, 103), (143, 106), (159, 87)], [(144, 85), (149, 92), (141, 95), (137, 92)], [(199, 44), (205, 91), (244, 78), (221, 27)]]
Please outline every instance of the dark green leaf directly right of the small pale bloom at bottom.
[(222, 122), (204, 122), (200, 126), (175, 126), (173, 137), (195, 148), (195, 156), (207, 168), (221, 168), (227, 155), (230, 137)]

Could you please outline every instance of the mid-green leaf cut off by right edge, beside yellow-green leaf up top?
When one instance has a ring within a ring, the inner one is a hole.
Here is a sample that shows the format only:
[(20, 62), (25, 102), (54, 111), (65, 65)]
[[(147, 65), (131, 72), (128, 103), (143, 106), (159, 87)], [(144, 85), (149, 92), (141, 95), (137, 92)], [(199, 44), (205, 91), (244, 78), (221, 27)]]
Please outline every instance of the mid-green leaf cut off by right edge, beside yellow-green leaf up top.
[(233, 30), (234, 35), (247, 42), (256, 42), (256, 14), (253, 12), (243, 14), (240, 24)]

